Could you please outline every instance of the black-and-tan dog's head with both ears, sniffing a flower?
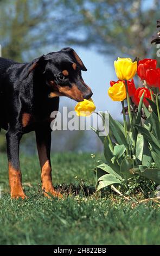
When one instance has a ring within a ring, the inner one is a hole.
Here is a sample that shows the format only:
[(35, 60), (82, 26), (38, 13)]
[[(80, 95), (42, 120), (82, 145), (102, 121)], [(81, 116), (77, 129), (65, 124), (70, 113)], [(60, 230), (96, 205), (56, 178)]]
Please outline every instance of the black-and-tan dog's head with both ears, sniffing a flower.
[(93, 94), (81, 76), (81, 70), (87, 69), (72, 48), (63, 48), (37, 58), (24, 75), (29, 76), (35, 70), (45, 78), (46, 85), (51, 89), (50, 97), (68, 96), (75, 101), (82, 101)]

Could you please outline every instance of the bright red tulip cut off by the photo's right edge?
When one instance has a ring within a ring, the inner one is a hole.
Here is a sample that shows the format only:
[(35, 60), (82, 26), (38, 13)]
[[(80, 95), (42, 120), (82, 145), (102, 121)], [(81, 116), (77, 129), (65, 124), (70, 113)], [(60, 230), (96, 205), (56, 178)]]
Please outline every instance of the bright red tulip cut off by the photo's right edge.
[(149, 87), (160, 88), (160, 69), (148, 69), (146, 70), (146, 82)]

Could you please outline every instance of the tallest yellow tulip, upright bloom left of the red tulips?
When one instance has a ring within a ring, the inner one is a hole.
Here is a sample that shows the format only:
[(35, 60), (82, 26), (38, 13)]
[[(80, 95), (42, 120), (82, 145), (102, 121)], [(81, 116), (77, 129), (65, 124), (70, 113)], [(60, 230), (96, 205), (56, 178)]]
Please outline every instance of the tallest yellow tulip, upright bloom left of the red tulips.
[(114, 60), (114, 68), (119, 80), (130, 80), (137, 71), (137, 62), (132, 62), (130, 58), (119, 58)]

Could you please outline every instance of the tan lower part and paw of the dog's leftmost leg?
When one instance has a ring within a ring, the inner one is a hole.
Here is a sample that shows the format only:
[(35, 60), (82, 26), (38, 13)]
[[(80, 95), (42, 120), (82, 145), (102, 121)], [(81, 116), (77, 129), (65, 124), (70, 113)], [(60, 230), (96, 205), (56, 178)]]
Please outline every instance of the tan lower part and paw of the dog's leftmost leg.
[(22, 174), (20, 170), (16, 170), (9, 163), (9, 185), (11, 198), (27, 198), (23, 192), (22, 188)]

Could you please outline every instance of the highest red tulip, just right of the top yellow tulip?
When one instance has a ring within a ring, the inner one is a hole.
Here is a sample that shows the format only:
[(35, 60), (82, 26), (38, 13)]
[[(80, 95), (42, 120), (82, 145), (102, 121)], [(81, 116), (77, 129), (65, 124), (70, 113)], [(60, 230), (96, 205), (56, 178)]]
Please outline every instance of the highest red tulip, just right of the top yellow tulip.
[(138, 62), (137, 74), (141, 80), (146, 80), (146, 70), (156, 69), (156, 59), (142, 59)]

